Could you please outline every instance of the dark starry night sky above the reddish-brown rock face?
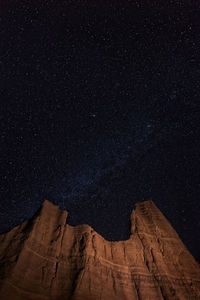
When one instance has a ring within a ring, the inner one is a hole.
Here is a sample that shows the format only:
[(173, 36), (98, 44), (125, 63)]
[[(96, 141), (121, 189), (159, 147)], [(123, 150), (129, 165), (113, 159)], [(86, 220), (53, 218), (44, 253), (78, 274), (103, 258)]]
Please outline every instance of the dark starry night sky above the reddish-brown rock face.
[(153, 200), (200, 261), (200, 3), (0, 1), (0, 232), (44, 198), (107, 240)]

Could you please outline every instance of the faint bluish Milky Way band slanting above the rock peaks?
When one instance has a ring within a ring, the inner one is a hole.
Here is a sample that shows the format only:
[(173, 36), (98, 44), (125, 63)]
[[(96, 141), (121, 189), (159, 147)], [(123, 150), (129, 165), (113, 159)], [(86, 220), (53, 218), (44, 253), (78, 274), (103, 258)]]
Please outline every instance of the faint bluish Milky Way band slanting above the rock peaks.
[(84, 191), (98, 185), (110, 171), (122, 168), (137, 145), (151, 146), (146, 140), (152, 131), (152, 125), (145, 122), (144, 116), (135, 115), (133, 120), (127, 121), (124, 132), (120, 130), (119, 134), (113, 130), (111, 136), (101, 137), (94, 144), (86, 142), (80, 147), (78, 157), (66, 168), (65, 175), (57, 178), (47, 191), (49, 197), (63, 200), (63, 204), (84, 201)]

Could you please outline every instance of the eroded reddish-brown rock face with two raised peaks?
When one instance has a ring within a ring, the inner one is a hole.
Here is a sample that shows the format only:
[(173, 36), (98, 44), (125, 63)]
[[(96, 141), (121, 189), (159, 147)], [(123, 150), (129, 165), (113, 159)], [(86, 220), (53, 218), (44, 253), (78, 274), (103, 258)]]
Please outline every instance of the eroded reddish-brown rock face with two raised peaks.
[(200, 267), (152, 201), (136, 204), (129, 240), (106, 241), (45, 200), (0, 235), (1, 300), (200, 299)]

